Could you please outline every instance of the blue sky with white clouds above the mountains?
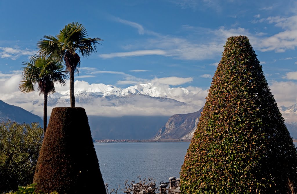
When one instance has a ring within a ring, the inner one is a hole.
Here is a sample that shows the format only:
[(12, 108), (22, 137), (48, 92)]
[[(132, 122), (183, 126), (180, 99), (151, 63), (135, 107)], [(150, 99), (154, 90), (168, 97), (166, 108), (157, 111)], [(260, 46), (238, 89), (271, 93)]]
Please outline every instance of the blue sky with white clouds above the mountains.
[(104, 41), (81, 60), (75, 80), (120, 88), (162, 80), (207, 90), (227, 38), (246, 35), (278, 104), (297, 102), (297, 1), (11, 0), (0, 1), (0, 16), (4, 101), (14, 97), (21, 62), (37, 52), (37, 41), (77, 21)]

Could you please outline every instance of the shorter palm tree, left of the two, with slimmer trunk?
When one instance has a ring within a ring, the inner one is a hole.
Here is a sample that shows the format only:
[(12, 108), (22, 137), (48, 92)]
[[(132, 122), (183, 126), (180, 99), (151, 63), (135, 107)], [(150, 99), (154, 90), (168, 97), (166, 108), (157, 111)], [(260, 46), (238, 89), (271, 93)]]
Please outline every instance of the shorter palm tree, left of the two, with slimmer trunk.
[(47, 105), (48, 95), (56, 92), (54, 84), (65, 86), (65, 75), (63, 62), (58, 58), (33, 55), (29, 62), (22, 62), (26, 67), (22, 67), (23, 74), (19, 85), (20, 92), (30, 93), (34, 91), (34, 85), (38, 85), (40, 94), (44, 94), (43, 104), (43, 130), (46, 131), (47, 125)]

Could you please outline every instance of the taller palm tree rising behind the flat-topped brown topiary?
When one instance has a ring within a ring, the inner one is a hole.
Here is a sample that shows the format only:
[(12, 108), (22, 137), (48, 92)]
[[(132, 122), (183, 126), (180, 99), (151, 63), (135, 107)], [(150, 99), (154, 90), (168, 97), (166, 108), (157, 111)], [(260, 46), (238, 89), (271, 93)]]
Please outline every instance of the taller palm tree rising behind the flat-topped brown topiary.
[[(92, 53), (97, 52), (96, 46), (102, 41), (100, 38), (88, 38), (85, 27), (78, 23), (72, 22), (67, 24), (58, 35), (44, 36), (37, 42), (39, 52), (46, 56), (59, 57), (64, 59), (66, 70), (70, 74), (70, 106), (75, 107), (74, 97), (74, 73), (78, 72), (80, 67), (80, 56), (90, 56)], [(78, 53), (77, 53), (78, 52)]]

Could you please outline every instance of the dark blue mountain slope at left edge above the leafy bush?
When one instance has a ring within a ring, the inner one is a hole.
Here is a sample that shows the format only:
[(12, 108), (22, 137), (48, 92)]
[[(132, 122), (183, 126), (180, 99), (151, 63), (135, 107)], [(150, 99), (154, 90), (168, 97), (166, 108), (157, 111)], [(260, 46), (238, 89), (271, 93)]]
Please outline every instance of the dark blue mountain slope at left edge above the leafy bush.
[(0, 122), (7, 120), (18, 123), (39, 122), (40, 125), (43, 123), (39, 116), (32, 114), (23, 108), (7, 104), (0, 100)]

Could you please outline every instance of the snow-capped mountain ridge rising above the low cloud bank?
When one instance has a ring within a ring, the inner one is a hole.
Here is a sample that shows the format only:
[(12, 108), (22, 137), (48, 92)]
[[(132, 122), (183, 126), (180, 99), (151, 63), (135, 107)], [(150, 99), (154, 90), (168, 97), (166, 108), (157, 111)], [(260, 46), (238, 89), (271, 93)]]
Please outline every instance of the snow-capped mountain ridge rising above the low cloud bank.
[[(188, 95), (191, 92), (185, 88), (162, 88), (151, 83), (138, 84), (126, 89), (99, 83), (88, 87), (75, 87), (75, 101), (79, 104), (90, 104), (99, 99), (100, 104), (103, 102), (105, 106), (131, 104), (140, 100), (167, 102), (176, 106), (185, 105), (185, 102), (175, 100), (180, 93)], [(38, 102), (34, 100), (33, 103)], [(48, 106), (56, 106), (59, 103), (70, 103), (69, 91), (56, 92), (48, 97)]]

